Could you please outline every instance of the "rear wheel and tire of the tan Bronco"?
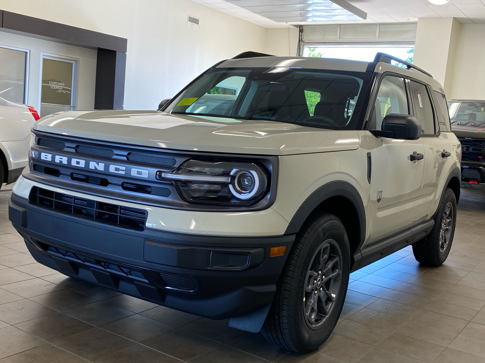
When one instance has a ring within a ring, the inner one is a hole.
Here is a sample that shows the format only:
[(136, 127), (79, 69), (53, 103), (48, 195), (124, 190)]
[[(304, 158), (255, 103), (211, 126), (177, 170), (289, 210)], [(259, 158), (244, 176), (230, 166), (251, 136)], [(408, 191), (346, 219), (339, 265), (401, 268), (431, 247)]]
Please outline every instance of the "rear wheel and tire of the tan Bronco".
[(445, 189), (433, 219), (435, 226), (426, 241), (413, 244), (414, 258), (425, 266), (439, 266), (450, 254), (456, 224), (456, 197), (450, 188)]

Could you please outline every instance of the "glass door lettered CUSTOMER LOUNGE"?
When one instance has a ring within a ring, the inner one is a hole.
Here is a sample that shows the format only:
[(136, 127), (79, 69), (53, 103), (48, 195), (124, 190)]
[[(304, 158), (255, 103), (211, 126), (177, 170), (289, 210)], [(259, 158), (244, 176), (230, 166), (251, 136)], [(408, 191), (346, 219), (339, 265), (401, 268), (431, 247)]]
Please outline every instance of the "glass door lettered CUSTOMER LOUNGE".
[(76, 67), (75, 60), (42, 57), (40, 117), (76, 109)]

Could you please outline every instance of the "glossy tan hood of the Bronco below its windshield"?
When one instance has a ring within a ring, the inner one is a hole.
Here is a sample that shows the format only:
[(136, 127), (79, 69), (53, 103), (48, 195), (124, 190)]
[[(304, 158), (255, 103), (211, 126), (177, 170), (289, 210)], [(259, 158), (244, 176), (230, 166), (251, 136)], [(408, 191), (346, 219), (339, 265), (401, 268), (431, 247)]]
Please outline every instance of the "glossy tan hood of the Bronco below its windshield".
[(263, 155), (356, 150), (357, 131), (160, 111), (65, 111), (33, 127), (64, 136), (186, 151)]

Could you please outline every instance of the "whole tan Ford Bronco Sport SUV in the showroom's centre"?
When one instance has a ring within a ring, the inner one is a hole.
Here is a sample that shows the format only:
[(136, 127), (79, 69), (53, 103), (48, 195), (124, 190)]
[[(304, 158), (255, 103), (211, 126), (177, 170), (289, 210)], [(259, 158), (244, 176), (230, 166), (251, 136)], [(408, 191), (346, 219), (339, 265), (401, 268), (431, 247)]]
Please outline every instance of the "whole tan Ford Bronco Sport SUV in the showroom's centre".
[(32, 132), (9, 217), (38, 262), (286, 349), (328, 338), (350, 272), (410, 244), (428, 266), (450, 252), (444, 91), (385, 54), (246, 52), (160, 111), (60, 112)]

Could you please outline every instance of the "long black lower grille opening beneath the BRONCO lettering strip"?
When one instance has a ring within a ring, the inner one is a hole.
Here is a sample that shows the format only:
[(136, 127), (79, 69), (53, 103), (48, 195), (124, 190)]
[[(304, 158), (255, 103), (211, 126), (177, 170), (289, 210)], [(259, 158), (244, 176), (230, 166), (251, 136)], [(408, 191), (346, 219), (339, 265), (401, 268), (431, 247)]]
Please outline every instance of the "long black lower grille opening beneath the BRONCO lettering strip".
[(73, 197), (51, 190), (33, 187), (31, 204), (113, 226), (143, 230), (147, 212), (143, 209), (118, 206), (86, 198)]

